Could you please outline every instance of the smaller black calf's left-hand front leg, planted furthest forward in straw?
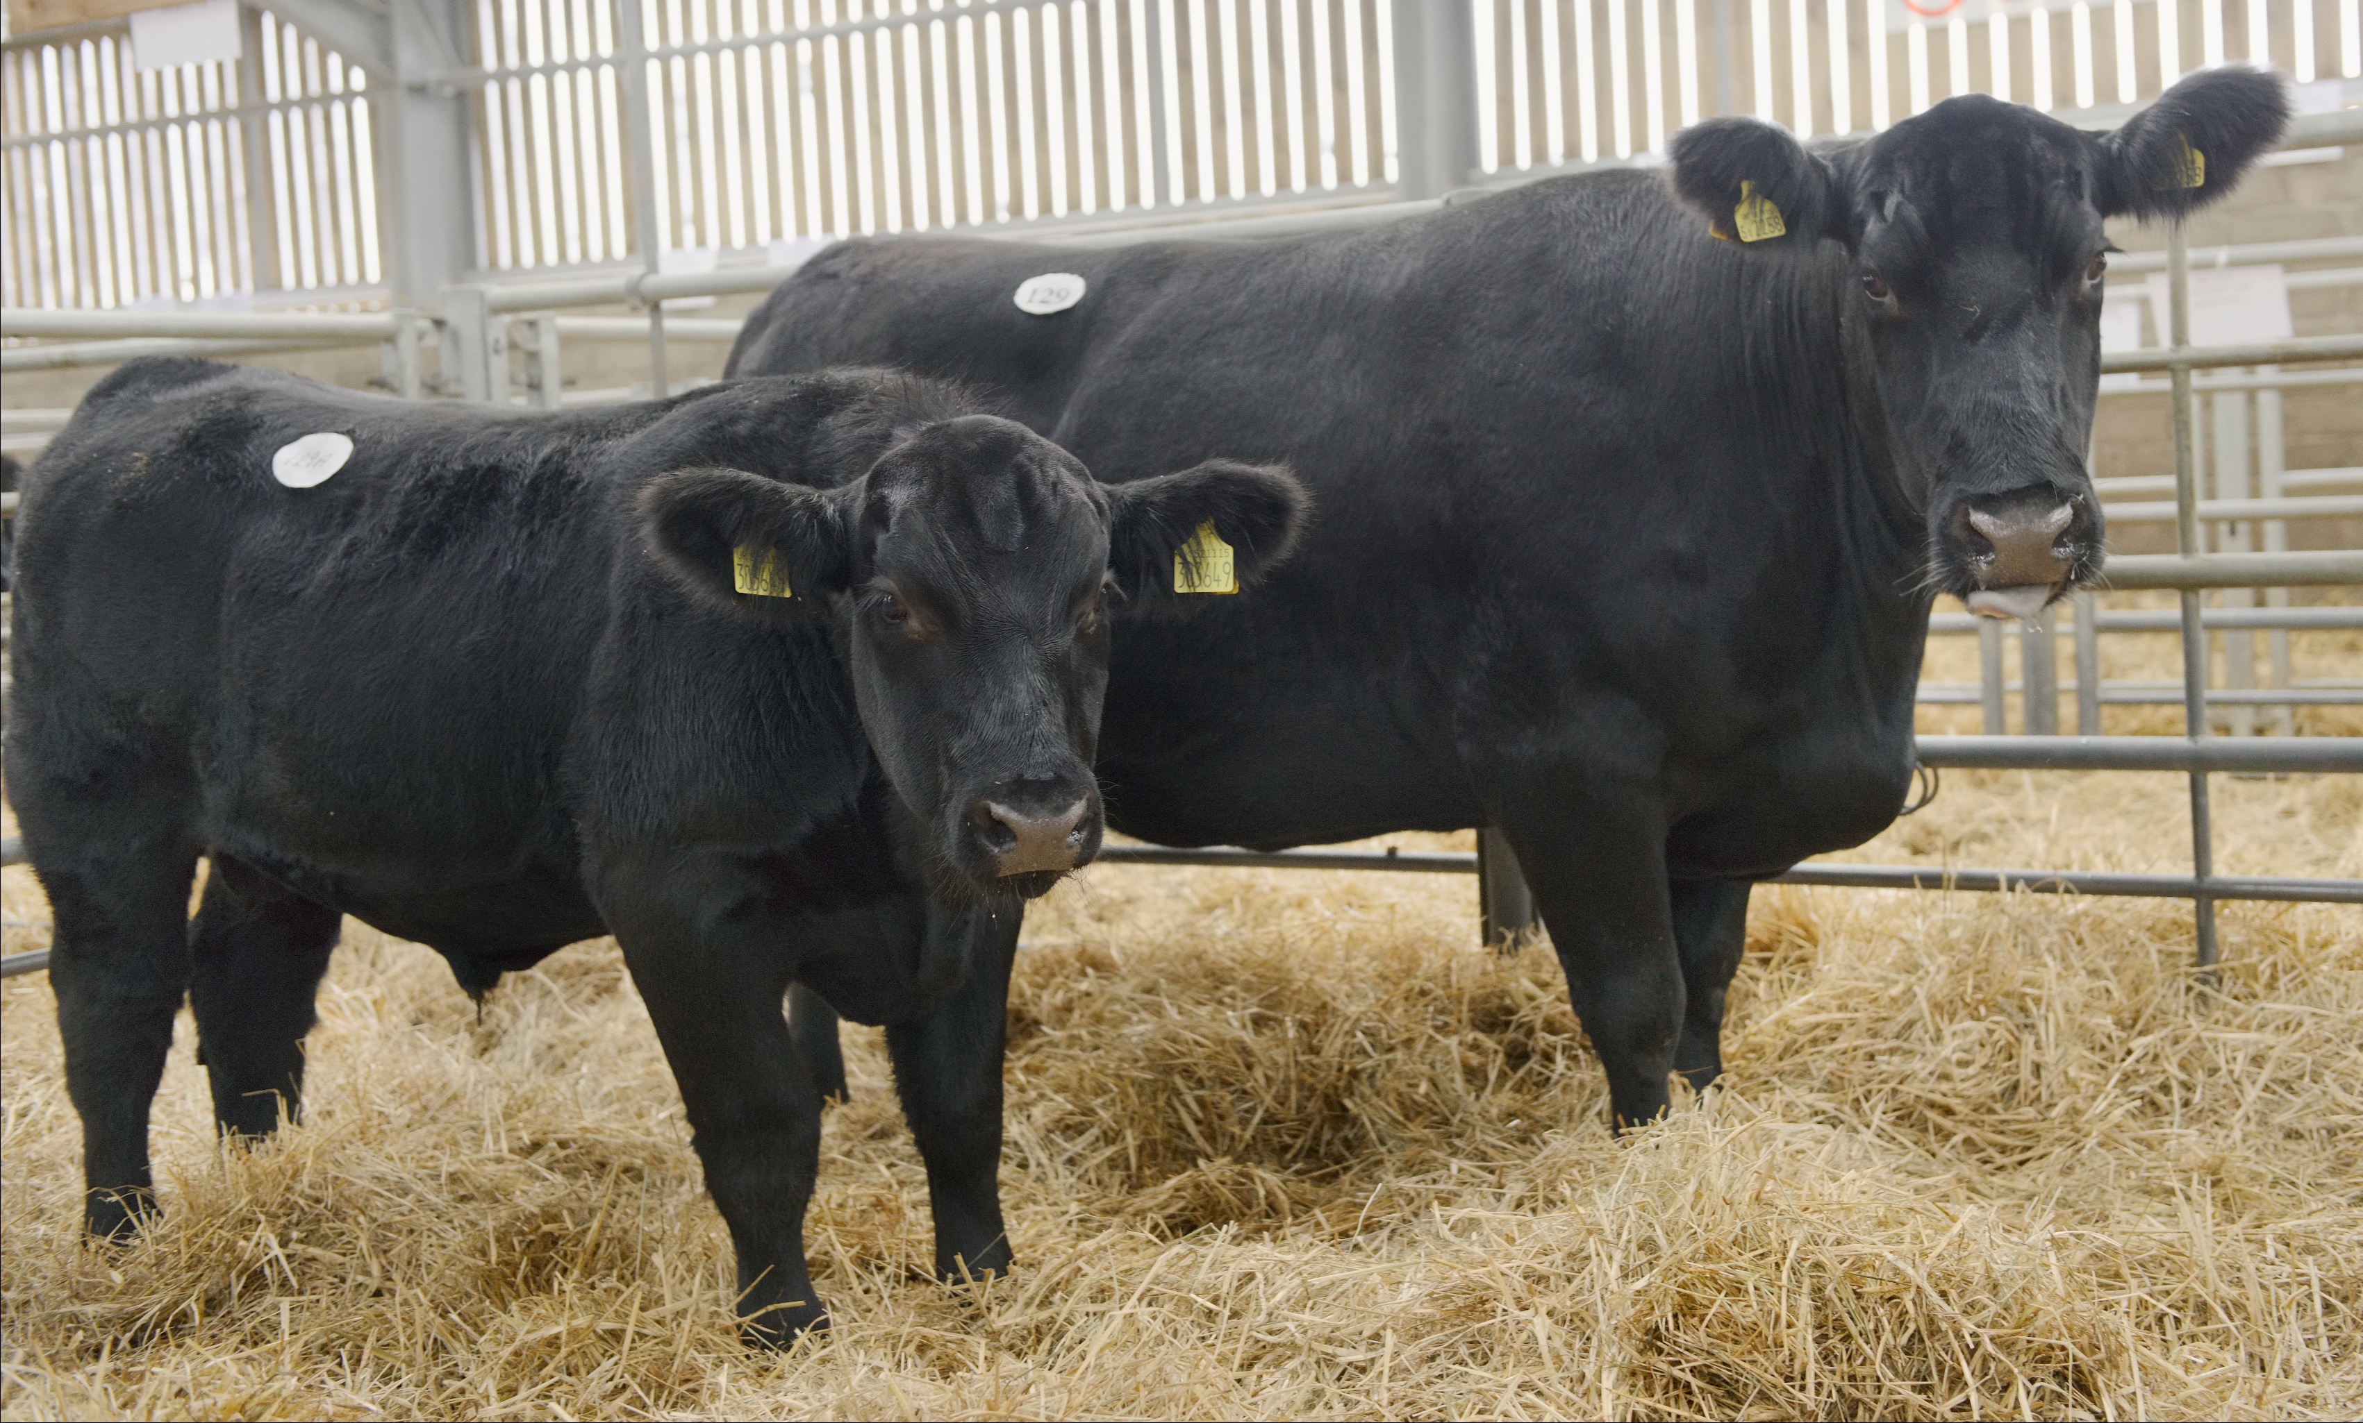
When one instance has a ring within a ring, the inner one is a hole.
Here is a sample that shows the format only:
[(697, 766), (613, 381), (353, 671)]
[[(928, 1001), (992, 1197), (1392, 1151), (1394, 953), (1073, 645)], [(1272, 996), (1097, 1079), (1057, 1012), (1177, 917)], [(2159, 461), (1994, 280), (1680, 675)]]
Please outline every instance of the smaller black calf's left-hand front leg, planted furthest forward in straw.
[(664, 864), (610, 871), (600, 909), (657, 1024), (707, 1192), (737, 1248), (740, 1331), (747, 1343), (787, 1345), (829, 1326), (803, 1265), (820, 1093), (782, 1010), (794, 956), (763, 932), (768, 920), (714, 899), (740, 892), (721, 880)]

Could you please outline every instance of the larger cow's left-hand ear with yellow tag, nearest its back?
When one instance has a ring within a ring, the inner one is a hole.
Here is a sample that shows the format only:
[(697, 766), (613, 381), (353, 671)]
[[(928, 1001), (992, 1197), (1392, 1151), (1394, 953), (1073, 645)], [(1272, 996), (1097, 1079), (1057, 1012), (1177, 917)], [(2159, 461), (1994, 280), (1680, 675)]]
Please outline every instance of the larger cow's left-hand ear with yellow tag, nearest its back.
[[(1805, 151), (1789, 130), (1760, 118), (1708, 118), (1673, 135), (1668, 179), (1711, 234), (1742, 248), (1846, 241), (1838, 172)], [(1789, 238), (1782, 243), (1779, 238)]]

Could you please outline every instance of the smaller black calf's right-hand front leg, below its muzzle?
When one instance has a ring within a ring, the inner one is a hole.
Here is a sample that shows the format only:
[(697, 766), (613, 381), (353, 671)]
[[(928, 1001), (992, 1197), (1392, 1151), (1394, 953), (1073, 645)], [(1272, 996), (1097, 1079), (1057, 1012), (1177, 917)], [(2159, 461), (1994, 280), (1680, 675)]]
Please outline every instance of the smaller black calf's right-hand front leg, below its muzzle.
[(974, 932), (966, 982), (933, 1012), (886, 1029), (903, 1116), (926, 1161), (936, 1211), (936, 1274), (969, 1279), (1009, 1270), (1002, 1225), (1002, 1050), (1009, 1041), (1009, 965), (1023, 906), (931, 913), (929, 932)]

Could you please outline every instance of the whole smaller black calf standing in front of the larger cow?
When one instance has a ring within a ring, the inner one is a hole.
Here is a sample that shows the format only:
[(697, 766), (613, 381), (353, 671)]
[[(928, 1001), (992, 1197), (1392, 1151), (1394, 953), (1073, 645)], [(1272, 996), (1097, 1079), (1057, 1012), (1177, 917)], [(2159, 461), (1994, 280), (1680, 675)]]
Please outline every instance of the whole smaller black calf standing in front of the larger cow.
[(1016, 897), (1099, 845), (1111, 581), (1167, 602), (1203, 522), (1252, 581), (1300, 514), (1276, 470), (1094, 484), (881, 370), (527, 413), (121, 368), (28, 477), (7, 741), (90, 1229), (154, 1204), (184, 991), (222, 1130), (295, 1109), (352, 913), (477, 994), (617, 937), (751, 1338), (825, 1322), (789, 984), (886, 1024), (938, 1265), (1002, 1267)]

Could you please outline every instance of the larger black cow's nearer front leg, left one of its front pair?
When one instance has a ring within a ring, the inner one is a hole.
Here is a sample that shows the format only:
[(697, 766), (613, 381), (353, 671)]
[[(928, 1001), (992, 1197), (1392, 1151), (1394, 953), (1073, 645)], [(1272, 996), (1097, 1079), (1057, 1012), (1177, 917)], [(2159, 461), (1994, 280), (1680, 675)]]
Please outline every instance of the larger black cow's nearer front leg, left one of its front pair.
[(1607, 1069), (1619, 1130), (1654, 1121), (1685, 1005), (1664, 819), (1640, 793), (1586, 795), (1510, 812), (1503, 833)]

